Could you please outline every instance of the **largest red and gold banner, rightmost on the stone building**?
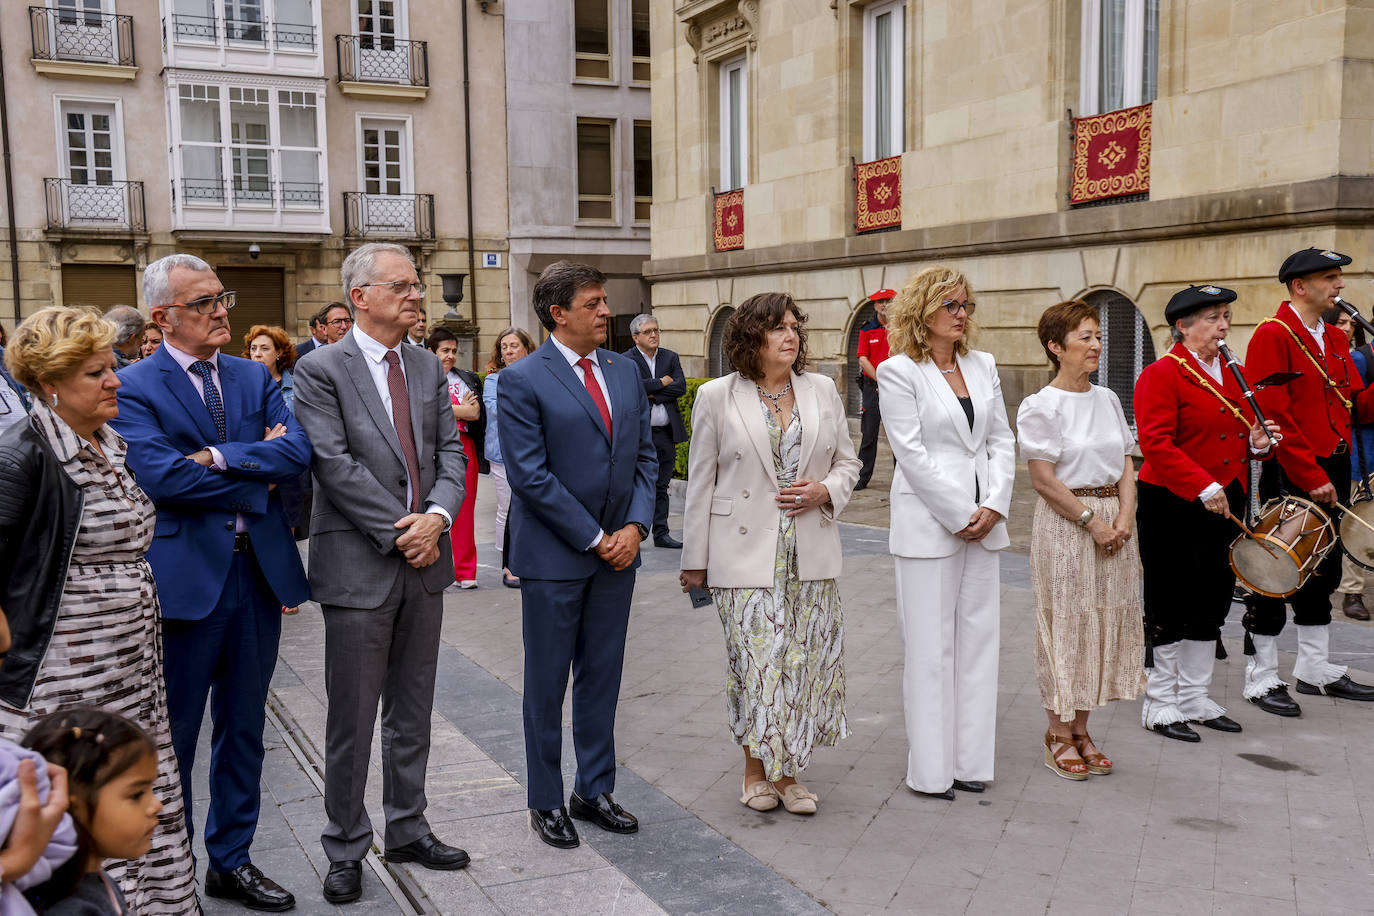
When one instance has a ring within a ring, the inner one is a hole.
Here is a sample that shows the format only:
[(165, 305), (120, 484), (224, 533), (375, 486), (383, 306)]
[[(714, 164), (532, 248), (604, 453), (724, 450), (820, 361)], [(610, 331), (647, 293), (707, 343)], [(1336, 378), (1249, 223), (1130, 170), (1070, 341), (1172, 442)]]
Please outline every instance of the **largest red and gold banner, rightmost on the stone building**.
[(1070, 203), (1150, 190), (1150, 106), (1073, 119)]

